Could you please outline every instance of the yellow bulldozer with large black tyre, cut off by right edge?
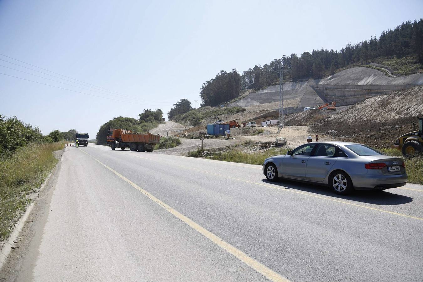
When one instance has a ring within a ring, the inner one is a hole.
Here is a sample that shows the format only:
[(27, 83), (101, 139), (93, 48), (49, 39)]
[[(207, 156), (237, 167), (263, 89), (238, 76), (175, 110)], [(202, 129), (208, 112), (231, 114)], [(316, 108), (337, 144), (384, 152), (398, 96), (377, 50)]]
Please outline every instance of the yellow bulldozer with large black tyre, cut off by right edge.
[(423, 154), (423, 118), (419, 119), (419, 130), (416, 130), (416, 124), (413, 123), (414, 130), (401, 135), (391, 145), (392, 148), (398, 149), (404, 156), (413, 156)]

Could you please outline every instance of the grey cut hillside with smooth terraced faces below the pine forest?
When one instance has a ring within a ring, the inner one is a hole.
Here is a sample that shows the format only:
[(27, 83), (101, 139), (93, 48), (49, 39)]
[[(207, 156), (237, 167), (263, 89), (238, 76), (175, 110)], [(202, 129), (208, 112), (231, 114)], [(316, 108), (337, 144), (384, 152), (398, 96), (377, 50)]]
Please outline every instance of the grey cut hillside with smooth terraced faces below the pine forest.
[[(352, 105), (372, 96), (423, 85), (423, 74), (390, 77), (382, 71), (367, 67), (354, 67), (339, 71), (324, 79), (305, 82), (286, 82), (283, 101), (286, 112), (299, 112), (304, 107), (336, 101), (337, 106)], [(229, 104), (230, 107), (269, 105), (279, 101), (279, 85), (249, 93)]]

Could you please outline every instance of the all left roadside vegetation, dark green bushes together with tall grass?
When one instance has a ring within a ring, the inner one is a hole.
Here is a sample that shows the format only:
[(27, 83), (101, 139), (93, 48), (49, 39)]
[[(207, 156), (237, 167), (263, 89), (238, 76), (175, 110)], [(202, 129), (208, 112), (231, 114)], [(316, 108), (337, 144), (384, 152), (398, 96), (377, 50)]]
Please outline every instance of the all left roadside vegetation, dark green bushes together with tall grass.
[(64, 143), (58, 130), (44, 136), (37, 127), (0, 115), (0, 241), (30, 203), (28, 194), (39, 188), (57, 163), (52, 152), (63, 149)]

